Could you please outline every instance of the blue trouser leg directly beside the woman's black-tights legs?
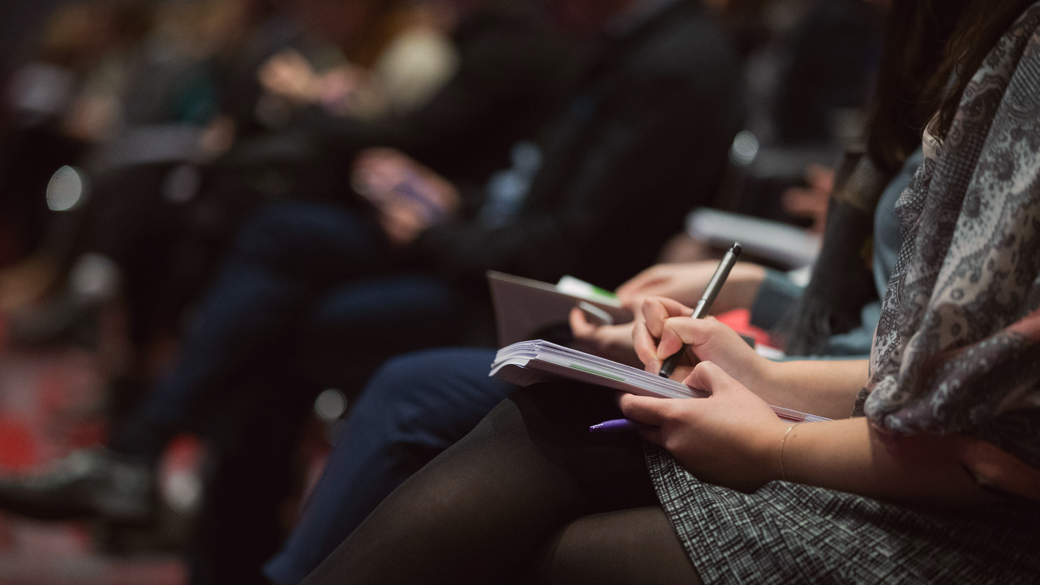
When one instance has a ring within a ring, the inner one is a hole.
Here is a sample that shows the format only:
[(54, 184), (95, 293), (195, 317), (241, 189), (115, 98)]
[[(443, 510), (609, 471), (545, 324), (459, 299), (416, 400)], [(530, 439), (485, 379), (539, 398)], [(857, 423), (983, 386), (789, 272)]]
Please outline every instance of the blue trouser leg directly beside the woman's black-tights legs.
[(324, 474), (264, 573), (304, 580), (395, 487), (466, 435), (516, 386), (489, 378), (494, 350), (394, 358), (371, 378), (336, 437)]

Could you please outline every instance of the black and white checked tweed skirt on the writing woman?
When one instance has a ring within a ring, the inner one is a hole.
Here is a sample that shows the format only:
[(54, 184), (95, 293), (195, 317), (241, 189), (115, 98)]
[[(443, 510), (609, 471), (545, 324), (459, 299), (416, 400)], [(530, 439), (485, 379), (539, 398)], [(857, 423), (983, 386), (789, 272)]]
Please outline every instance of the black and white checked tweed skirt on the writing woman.
[(699, 482), (647, 446), (657, 498), (705, 584), (1040, 583), (1040, 505), (924, 512), (771, 482)]

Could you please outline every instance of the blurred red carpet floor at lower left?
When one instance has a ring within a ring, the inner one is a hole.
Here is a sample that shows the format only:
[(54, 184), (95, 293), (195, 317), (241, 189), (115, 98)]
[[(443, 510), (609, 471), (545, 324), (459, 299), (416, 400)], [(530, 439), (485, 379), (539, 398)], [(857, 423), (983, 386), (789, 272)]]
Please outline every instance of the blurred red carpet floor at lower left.
[[(99, 354), (84, 350), (0, 347), (0, 469), (31, 469), (71, 449), (96, 444), (105, 429), (101, 372)], [(198, 463), (198, 447), (182, 443), (174, 452), (175, 468), (167, 461), (164, 476), (183, 486), (185, 474)], [(185, 582), (176, 555), (106, 554), (99, 550), (98, 530), (89, 523), (43, 523), (0, 512), (0, 585)]]

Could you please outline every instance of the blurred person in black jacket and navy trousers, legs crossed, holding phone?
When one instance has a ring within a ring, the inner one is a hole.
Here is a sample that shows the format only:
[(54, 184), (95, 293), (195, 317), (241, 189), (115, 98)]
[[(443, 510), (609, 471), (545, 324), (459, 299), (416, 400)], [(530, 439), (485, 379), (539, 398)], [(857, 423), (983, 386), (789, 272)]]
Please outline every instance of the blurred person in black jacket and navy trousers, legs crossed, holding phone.
[[(742, 118), (735, 58), (698, 2), (551, 7), (565, 24), (599, 35), (601, 51), (544, 128), (541, 166), (520, 156), (510, 188), (467, 196), (404, 155), (376, 151), (357, 162), (370, 210), (303, 201), (260, 210), (138, 415), (108, 450), (57, 464), (84, 472), (78, 478), (5, 482), (7, 507), (50, 517), (146, 515), (166, 441), (199, 430), (216, 458), (200, 549), (213, 563), (234, 561), (224, 582), (255, 580), (280, 540), (270, 535), (280, 534), (279, 504), (290, 487), (285, 446), (316, 393), (298, 387), (294, 370), (308, 330), (330, 329), (342, 348), (336, 361), (370, 372), (399, 351), (460, 334), (465, 320), (453, 309), (472, 299), (484, 306), (489, 269), (546, 280), (570, 273), (615, 286), (649, 264), (684, 210), (714, 197)], [(432, 332), (390, 334), (389, 321), (416, 314)], [(262, 424), (271, 418), (281, 424)], [(280, 448), (263, 447), (270, 444)]]

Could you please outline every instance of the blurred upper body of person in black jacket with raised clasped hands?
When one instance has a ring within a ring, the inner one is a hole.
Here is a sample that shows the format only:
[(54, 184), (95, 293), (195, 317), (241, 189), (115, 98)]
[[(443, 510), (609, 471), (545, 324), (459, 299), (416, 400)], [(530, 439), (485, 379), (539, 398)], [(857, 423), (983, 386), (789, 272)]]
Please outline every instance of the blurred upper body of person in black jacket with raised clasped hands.
[[(569, 99), (586, 65), (582, 43), (550, 29), (541, 3), (532, 0), (430, 0), (417, 8), (411, 11), (415, 24), (401, 39), (405, 48), (428, 43), (423, 39), (431, 29), (446, 30), (458, 65), (446, 84), (413, 115), (402, 115), (397, 106), (374, 118), (337, 116), (352, 111), (354, 94), (347, 90), (357, 84), (344, 83), (335, 71), (293, 82), (300, 90), (287, 93), (313, 104), (301, 124), (330, 159), (353, 159), (369, 147), (394, 148), (452, 182), (483, 186), (492, 173), (510, 166), (513, 145), (534, 139), (547, 117)], [(421, 77), (415, 71), (418, 61), (406, 62), (415, 52), (390, 47), (386, 67), (399, 62), (402, 73)], [(388, 83), (414, 84), (407, 76)]]

